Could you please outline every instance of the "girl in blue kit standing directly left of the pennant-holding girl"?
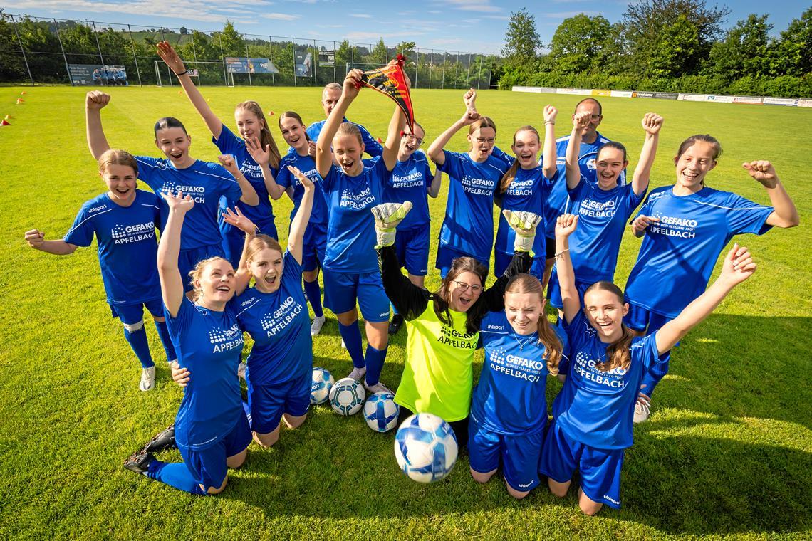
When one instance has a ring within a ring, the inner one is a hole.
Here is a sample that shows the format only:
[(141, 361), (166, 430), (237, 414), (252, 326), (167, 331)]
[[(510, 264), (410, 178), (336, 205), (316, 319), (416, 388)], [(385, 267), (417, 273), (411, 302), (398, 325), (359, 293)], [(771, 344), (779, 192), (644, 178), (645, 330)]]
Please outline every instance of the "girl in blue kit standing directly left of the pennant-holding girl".
[(300, 170), (315, 186), (313, 190), (313, 210), (310, 213), (307, 229), (304, 230), (302, 241), (302, 277), (304, 277), (304, 294), (307, 295), (310, 307), (313, 308), (313, 323), (310, 325), (310, 335), (316, 336), (321, 332), (326, 320), (322, 310), (322, 290), (318, 286), (318, 269), (324, 263), (327, 248), (327, 204), (324, 198), (322, 177), (316, 170), (316, 162), (309, 154), (310, 140), (305, 131), (304, 122), (299, 114), (286, 111), (279, 115), (279, 130), (285, 142), (290, 145), (292, 152), (288, 152), (280, 162), (279, 176), (276, 183), (291, 195), (293, 210), (291, 221), (296, 216), (304, 187), (296, 180), (287, 166), (291, 165)]

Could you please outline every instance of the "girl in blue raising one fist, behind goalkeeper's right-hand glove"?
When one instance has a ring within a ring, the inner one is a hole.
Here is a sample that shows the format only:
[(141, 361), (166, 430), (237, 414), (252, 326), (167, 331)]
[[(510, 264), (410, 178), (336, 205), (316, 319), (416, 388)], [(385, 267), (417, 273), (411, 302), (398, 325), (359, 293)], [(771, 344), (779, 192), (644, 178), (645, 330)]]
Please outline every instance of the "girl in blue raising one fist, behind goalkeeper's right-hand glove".
[[(538, 151), (542, 141), (538, 130), (532, 126), (520, 127), (513, 134), (511, 146), (516, 157), (508, 157), (510, 169), (499, 182), (496, 200), (506, 210), (528, 210), (540, 215), (546, 214), (546, 193), (549, 178), (555, 176), (555, 117), (558, 109), (552, 105), (544, 108), (544, 153), (539, 165)], [(507, 155), (506, 155), (507, 156)], [(513, 256), (513, 230), (508, 226), (504, 215), (499, 216), (494, 245), (495, 272), (501, 276)], [(544, 235), (538, 235), (533, 246), (533, 276), (541, 279), (545, 264)]]

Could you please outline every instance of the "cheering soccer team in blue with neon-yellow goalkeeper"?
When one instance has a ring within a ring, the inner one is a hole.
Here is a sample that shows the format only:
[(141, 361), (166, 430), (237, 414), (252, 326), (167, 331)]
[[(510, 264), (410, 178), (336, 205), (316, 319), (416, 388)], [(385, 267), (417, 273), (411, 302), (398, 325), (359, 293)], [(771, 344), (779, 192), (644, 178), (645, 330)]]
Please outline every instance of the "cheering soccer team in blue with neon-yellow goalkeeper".
[[(244, 462), (252, 439), (268, 447), (282, 421), (304, 422), (313, 336), (325, 321), (321, 271), (324, 306), (352, 359), (348, 377), (369, 393), (389, 391), (380, 381), (387, 341), (405, 326), (394, 393), (400, 419), (431, 413), (450, 423), (460, 447), (467, 445), (474, 479), (485, 483), (502, 466), (512, 496), (526, 496), (542, 477), (564, 496), (578, 470), (585, 513), (619, 508), (624, 449), (633, 422), (648, 416), (670, 350), (755, 271), (749, 251), (734, 244), (708, 286), (725, 245), (736, 234), (799, 221), (769, 161), (743, 167), (770, 206), (706, 186), (721, 153), (710, 135), (683, 141), (674, 184), (646, 197), (663, 118), (642, 119), (645, 140), (628, 179), (626, 150), (598, 133), (603, 115), (593, 98), (577, 105), (571, 133), (558, 139), (561, 116), (547, 105), (543, 134), (520, 127), (509, 155), (495, 147), (495, 123), (469, 91), (461, 118), (424, 153), (423, 129), (406, 126), (397, 107), (383, 144), (348, 122), (360, 77), (351, 71), (343, 85), (324, 88), (326, 120), (306, 127), (299, 114), (279, 116), (290, 146), (282, 155), (257, 102), (237, 105), (235, 134), (175, 50), (164, 42), (158, 52), (209, 128), (221, 163), (190, 157), (191, 139), (171, 117), (154, 127), (164, 157), (110, 149), (101, 116), (110, 96), (89, 92), (88, 144), (108, 191), (82, 206), (62, 240), (45, 240), (40, 230), (25, 239), (56, 255), (97, 239), (107, 302), (140, 360), (144, 391), (155, 378), (144, 307), (153, 316), (184, 398), (173, 427), (125, 466), (186, 492), (221, 492), (227, 468)], [(469, 152), (444, 150), (463, 128)], [(437, 197), (441, 171), (448, 176), (436, 260), (443, 281), (430, 292), (428, 197)], [(136, 178), (152, 191), (136, 189)], [(285, 193), (294, 208), (283, 248), (270, 200)], [(494, 204), (503, 209), (495, 238)], [(630, 220), (643, 241), (621, 291), (612, 280)], [(491, 248), (496, 280), (486, 287)], [(548, 300), (558, 324), (545, 316)], [(247, 367), (243, 333), (253, 339)], [(474, 386), (478, 347), (485, 362)], [(564, 382), (552, 421), (548, 375)], [(184, 462), (155, 458), (173, 444)]]

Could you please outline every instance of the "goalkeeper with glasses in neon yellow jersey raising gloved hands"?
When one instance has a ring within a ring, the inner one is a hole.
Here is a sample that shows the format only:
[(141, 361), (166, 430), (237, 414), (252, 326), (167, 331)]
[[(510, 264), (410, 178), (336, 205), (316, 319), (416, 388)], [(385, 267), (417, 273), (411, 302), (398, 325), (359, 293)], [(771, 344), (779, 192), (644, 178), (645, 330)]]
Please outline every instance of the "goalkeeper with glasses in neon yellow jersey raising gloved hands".
[(479, 343), (482, 318), (489, 311), (503, 311), (508, 280), (529, 271), (532, 259), (528, 252), (541, 217), (506, 211), (508, 223), (516, 230), (516, 255), (493, 286), (483, 287), (486, 266), (463, 256), (453, 260), (443, 284), (431, 293), (412, 284), (400, 271), (395, 227), (410, 208), (407, 202), (372, 209), (383, 287), (406, 320), (408, 332), (395, 403), (400, 406), (400, 421), (412, 413), (431, 413), (445, 419), (463, 447), (468, 442), (473, 352)]

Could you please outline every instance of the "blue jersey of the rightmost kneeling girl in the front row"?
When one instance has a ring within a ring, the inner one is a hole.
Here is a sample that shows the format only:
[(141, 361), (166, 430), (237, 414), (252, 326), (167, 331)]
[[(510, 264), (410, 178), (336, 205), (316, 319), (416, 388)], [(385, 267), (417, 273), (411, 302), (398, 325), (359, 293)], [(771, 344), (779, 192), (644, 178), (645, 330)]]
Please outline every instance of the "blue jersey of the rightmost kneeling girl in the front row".
[(628, 370), (617, 367), (600, 371), (608, 344), (598, 338), (583, 311), (566, 325), (571, 351), (564, 387), (553, 402), (555, 423), (582, 444), (596, 449), (626, 449), (632, 446), (634, 404), (643, 375), (655, 363), (663, 362), (657, 351), (656, 333), (632, 341)]

